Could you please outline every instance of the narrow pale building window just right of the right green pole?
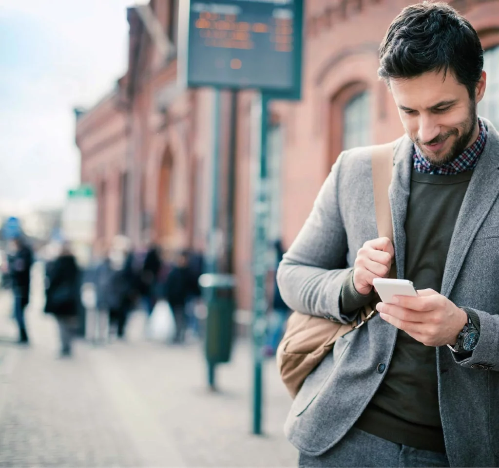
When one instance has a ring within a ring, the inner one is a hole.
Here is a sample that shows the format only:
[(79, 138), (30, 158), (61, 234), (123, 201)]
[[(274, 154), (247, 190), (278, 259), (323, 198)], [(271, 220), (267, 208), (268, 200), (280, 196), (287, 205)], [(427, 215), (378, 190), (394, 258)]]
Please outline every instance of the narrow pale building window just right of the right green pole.
[(268, 161), (268, 196), (270, 214), (268, 238), (277, 240), (281, 237), (281, 167), (283, 155), (283, 131), (280, 124), (272, 125), (267, 133)]

